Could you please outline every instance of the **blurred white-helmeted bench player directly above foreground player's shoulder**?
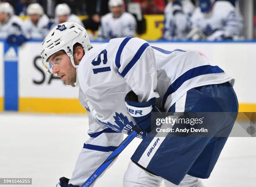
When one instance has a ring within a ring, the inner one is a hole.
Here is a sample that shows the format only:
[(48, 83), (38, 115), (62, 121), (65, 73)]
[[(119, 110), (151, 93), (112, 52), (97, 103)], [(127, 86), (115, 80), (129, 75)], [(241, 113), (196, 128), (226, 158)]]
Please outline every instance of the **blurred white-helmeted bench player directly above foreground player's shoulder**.
[(111, 12), (101, 18), (98, 40), (134, 37), (136, 34), (136, 20), (129, 12), (124, 12), (123, 0), (110, 0), (108, 6)]

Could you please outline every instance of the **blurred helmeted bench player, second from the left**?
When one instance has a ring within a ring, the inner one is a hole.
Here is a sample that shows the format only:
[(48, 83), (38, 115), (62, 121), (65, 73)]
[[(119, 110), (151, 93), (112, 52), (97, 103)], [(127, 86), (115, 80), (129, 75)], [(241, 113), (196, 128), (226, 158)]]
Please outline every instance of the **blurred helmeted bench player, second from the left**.
[(49, 17), (44, 14), (44, 9), (38, 3), (28, 5), (27, 14), (28, 20), (24, 21), (24, 27), (28, 30), (31, 38), (44, 39), (49, 30)]

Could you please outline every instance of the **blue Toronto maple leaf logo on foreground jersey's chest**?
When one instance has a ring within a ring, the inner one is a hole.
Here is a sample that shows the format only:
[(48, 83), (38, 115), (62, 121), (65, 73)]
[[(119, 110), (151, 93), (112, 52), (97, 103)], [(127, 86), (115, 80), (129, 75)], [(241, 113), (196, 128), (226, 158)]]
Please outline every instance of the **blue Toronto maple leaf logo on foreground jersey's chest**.
[[(126, 116), (124, 116), (122, 113), (118, 114), (117, 112), (115, 112), (115, 116), (113, 116), (115, 119), (115, 124), (113, 125), (110, 122), (102, 122), (99, 119), (97, 119), (101, 124), (110, 127), (112, 130), (115, 130), (117, 132), (122, 132), (125, 134), (130, 134), (131, 131), (134, 129), (134, 125), (132, 121), (129, 121), (128, 118)], [(137, 135), (137, 137), (139, 138), (143, 138), (146, 135), (144, 133), (140, 133), (139, 135)]]

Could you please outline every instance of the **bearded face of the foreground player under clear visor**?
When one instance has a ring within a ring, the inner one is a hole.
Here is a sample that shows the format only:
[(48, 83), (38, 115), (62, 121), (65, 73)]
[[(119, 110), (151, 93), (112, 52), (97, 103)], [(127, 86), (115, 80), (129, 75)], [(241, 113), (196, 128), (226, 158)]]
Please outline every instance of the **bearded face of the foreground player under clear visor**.
[(76, 82), (76, 68), (74, 68), (65, 52), (54, 53), (49, 57), (49, 62), (53, 65), (53, 73), (56, 73), (67, 85), (72, 85)]

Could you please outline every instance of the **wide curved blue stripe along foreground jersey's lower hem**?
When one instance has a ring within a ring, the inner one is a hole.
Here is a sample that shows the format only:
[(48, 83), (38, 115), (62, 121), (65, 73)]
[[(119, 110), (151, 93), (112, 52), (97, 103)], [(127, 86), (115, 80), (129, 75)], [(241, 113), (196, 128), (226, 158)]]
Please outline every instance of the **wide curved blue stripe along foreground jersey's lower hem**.
[(187, 80), (192, 79), (194, 77), (200, 76), (200, 75), (207, 75), (207, 74), (213, 74), (213, 73), (223, 73), (224, 71), (220, 69), (218, 66), (211, 66), (211, 65), (202, 65), (199, 67), (194, 67), (181, 76), (179, 76), (167, 89), (166, 93), (164, 94), (163, 101), (162, 101), (162, 107), (164, 107), (166, 99), (169, 95), (174, 93), (176, 90), (179, 89), (179, 87)]

